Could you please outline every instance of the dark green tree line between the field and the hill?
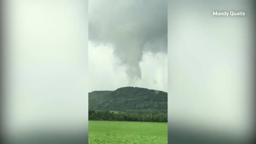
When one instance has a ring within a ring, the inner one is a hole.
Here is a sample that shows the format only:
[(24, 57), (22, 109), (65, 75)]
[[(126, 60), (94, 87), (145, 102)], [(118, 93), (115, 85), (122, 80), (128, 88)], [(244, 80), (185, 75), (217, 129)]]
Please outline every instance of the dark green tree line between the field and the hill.
[(92, 121), (135, 121), (135, 122), (167, 122), (166, 111), (125, 111), (89, 110)]

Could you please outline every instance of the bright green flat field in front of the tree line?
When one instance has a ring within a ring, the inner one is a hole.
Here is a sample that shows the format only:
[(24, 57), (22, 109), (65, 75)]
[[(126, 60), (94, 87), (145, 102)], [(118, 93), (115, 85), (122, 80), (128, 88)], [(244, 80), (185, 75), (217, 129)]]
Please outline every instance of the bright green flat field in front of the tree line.
[(89, 143), (167, 143), (167, 123), (89, 121)]

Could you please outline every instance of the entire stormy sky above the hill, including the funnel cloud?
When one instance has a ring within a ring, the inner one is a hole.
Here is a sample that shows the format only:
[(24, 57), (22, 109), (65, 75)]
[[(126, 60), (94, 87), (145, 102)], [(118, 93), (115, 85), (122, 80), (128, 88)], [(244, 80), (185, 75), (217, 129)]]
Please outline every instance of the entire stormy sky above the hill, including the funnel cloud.
[(89, 2), (89, 91), (167, 91), (167, 2)]

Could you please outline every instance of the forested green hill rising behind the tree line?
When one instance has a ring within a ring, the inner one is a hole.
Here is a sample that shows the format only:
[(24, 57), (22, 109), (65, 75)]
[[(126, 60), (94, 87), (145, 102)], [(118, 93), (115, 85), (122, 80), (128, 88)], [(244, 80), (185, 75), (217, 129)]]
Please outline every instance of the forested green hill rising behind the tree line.
[(140, 87), (89, 93), (89, 110), (167, 111), (167, 93)]

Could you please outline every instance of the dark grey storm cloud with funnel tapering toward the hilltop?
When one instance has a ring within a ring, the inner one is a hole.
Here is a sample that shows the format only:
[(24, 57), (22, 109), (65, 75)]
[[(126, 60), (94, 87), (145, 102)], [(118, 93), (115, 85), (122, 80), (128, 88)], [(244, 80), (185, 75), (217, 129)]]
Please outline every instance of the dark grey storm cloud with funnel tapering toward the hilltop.
[(166, 1), (94, 0), (89, 7), (89, 41), (113, 45), (130, 83), (141, 78), (143, 53), (167, 53)]

